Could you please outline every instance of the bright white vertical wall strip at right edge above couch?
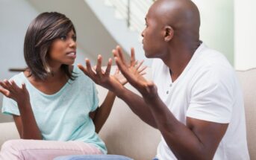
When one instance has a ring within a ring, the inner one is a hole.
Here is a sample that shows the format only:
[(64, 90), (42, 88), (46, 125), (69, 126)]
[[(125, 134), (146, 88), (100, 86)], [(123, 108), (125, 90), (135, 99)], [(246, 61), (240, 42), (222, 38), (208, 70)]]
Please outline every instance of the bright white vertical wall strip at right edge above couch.
[(256, 1), (235, 0), (235, 68), (245, 70), (256, 67)]

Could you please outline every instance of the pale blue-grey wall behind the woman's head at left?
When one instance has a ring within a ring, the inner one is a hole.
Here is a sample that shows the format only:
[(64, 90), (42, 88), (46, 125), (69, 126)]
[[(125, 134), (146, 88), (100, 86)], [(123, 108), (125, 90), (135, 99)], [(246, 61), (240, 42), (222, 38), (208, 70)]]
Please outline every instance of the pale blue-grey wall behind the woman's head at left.
[[(9, 68), (25, 67), (23, 43), (30, 22), (38, 15), (37, 10), (26, 0), (0, 0), (0, 80), (9, 79), (14, 74)], [(88, 57), (95, 63), (85, 49), (78, 48), (76, 63), (84, 63)], [(0, 109), (2, 95), (0, 94)], [(0, 122), (10, 121), (10, 116), (0, 113)]]

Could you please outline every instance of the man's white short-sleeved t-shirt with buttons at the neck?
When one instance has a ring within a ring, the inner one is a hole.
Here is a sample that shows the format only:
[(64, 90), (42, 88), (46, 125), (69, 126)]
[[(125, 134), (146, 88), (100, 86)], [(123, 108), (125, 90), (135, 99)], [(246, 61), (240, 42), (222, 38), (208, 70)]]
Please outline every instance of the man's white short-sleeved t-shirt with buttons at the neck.
[[(157, 92), (178, 121), (186, 124), (190, 117), (229, 124), (214, 160), (249, 159), (243, 95), (234, 69), (222, 54), (200, 45), (174, 83), (162, 60), (154, 60), (152, 66)], [(157, 158), (176, 159), (163, 137)]]

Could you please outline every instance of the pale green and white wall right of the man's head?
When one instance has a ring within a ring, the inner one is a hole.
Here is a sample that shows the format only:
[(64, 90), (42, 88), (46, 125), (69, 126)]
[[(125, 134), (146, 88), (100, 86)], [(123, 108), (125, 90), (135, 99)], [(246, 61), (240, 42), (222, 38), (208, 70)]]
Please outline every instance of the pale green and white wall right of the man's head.
[(193, 0), (201, 12), (201, 39), (237, 70), (256, 67), (256, 1)]

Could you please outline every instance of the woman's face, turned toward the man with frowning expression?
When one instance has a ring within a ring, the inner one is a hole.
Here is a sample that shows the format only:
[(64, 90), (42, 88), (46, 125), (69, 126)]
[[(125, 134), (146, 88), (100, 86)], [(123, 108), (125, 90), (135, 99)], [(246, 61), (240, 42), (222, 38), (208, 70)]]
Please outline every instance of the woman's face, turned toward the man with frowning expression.
[(48, 54), (48, 62), (51, 67), (56, 65), (72, 65), (76, 57), (76, 35), (74, 31), (69, 31), (55, 39), (51, 44)]

